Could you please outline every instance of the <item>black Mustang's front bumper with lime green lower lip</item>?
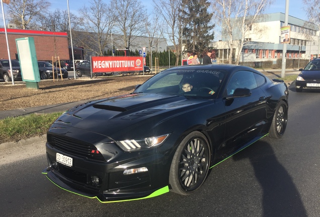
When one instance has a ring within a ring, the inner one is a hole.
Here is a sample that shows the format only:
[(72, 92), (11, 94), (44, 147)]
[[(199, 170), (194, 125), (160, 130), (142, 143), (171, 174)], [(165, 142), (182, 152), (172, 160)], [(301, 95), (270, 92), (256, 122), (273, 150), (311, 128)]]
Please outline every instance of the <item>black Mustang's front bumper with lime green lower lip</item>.
[[(108, 163), (101, 159), (70, 156), (49, 143), (46, 151), (49, 166), (42, 173), (60, 188), (78, 195), (97, 198), (101, 202), (116, 202), (153, 197), (169, 191), (169, 168), (164, 165), (163, 155), (157, 153)], [(57, 163), (57, 152), (72, 157), (72, 167)], [(148, 171), (123, 173), (128, 168), (140, 167), (146, 167)], [(99, 184), (94, 182), (94, 177), (99, 178)]]

